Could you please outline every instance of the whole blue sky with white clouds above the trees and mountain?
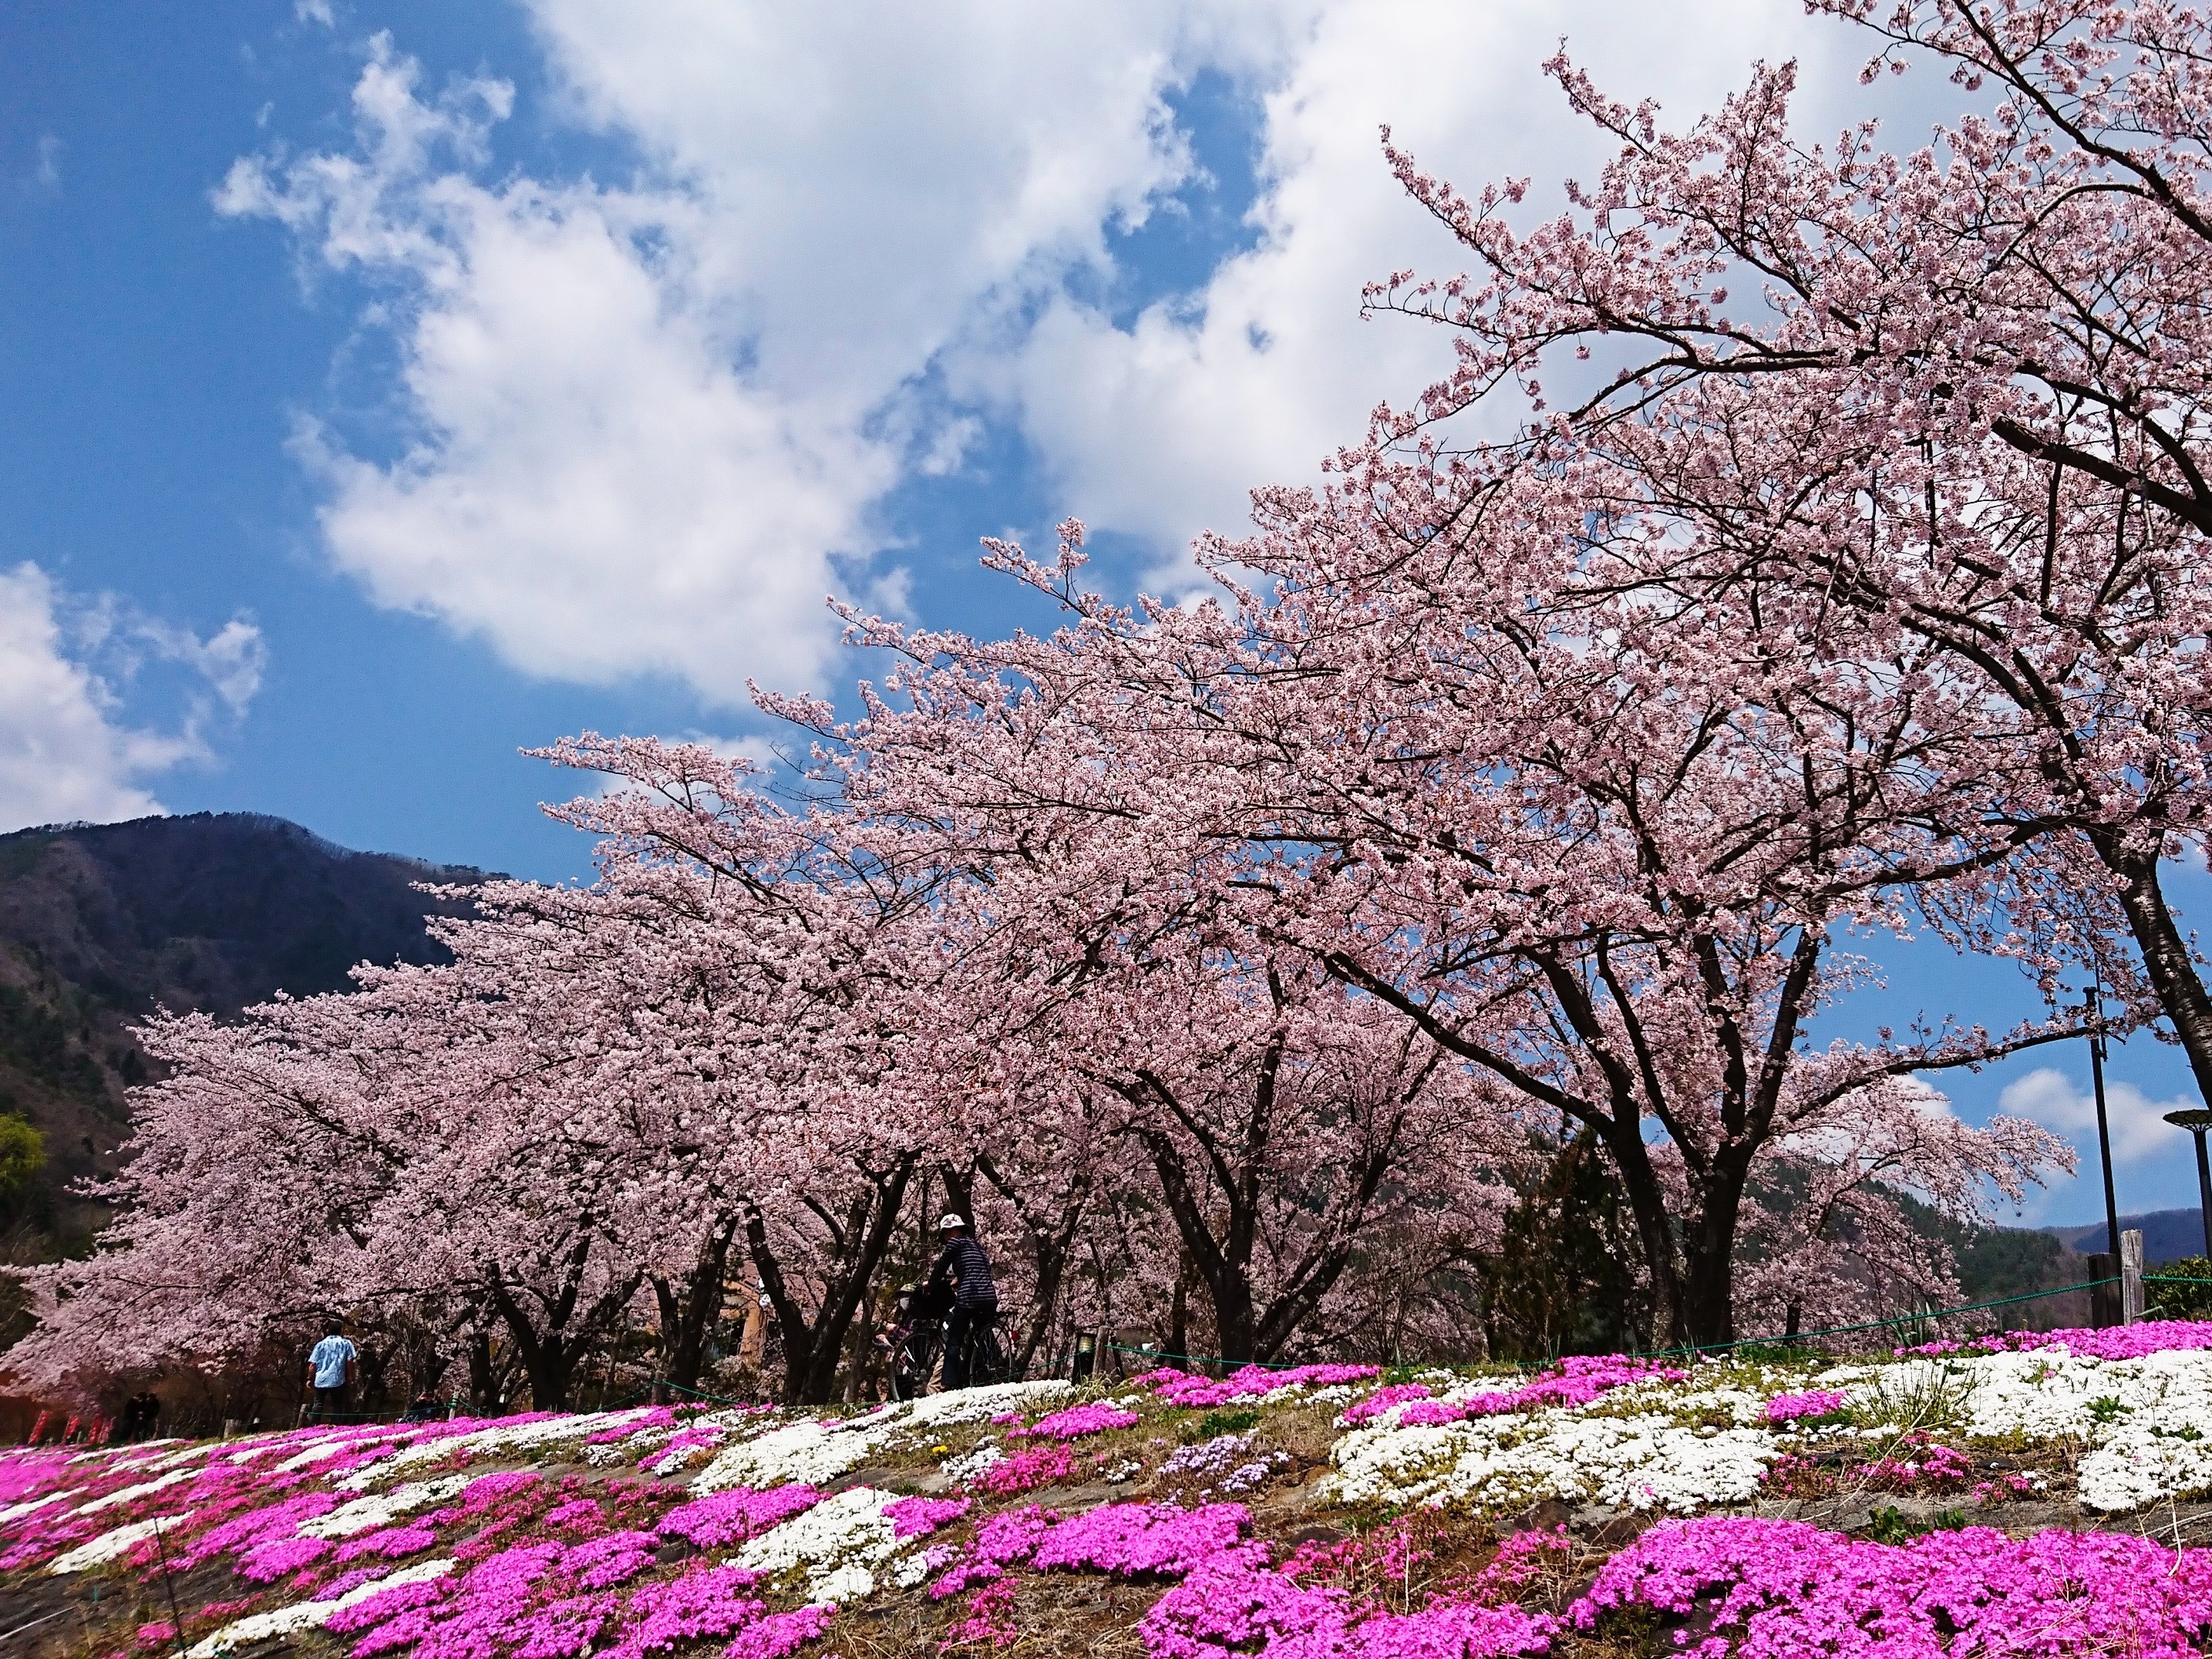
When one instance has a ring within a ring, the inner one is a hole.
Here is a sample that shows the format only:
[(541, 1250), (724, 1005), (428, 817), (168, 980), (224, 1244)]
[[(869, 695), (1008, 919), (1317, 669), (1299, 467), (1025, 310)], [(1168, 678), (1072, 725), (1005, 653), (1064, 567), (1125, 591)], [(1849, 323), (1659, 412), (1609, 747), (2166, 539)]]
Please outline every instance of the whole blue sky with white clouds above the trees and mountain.
[[(254, 810), (575, 876), (518, 750), (763, 743), (748, 677), (860, 668), (832, 588), (1042, 622), (975, 540), (1077, 513), (1108, 588), (1175, 591), (1442, 361), (1358, 321), (1363, 281), (1458, 268), (1376, 124), (1462, 184), (1588, 175), (1562, 31), (1683, 115), (1761, 55), (1818, 131), (1860, 97), (1863, 44), (1783, 0), (7, 9), (0, 827)], [(1851, 1024), (2026, 1011), (1882, 956)], [(2192, 1201), (2143, 1130), (2183, 1068), (2112, 1071), (2121, 1201)], [(1947, 1088), (2077, 1128), (2086, 1060)]]

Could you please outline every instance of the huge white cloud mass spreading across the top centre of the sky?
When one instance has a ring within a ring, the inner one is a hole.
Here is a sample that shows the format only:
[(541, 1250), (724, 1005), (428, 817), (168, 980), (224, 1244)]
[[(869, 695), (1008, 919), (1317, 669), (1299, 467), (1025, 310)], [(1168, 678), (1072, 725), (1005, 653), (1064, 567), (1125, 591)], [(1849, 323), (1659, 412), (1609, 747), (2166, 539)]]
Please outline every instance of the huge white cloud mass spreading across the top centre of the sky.
[[(1683, 119), (1754, 55), (1834, 82), (1865, 51), (1770, 0), (529, 11), (551, 113), (633, 146), (635, 177), (489, 177), (511, 86), (427, 95), (380, 35), (354, 144), (241, 159), (217, 206), (380, 288), (411, 436), (296, 438), (334, 562), (529, 672), (714, 703), (825, 684), (823, 593), (885, 577), (885, 495), (958, 469), (978, 411), (1020, 427), (1055, 509), (1172, 560), (1427, 380), (1433, 330), (1358, 321), (1365, 281), (1458, 265), (1380, 122), (1467, 184), (1553, 186), (1597, 155), (1537, 71), (1562, 31)], [(1168, 95), (1201, 71), (1261, 100), (1259, 243), (1115, 327), (1068, 279), (1197, 177)]]

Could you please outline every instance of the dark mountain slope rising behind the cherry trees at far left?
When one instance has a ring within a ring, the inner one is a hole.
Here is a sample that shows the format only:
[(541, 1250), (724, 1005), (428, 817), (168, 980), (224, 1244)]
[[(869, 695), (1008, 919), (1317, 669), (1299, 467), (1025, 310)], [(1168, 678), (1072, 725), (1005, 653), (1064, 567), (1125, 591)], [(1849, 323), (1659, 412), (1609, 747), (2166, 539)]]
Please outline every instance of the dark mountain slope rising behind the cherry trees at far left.
[(102, 1208), (66, 1188), (115, 1166), (124, 1091), (148, 1075), (133, 1022), (234, 1018), (276, 991), (343, 989), (363, 960), (440, 960), (425, 918), (467, 905), (416, 885), (480, 880), (246, 812), (0, 836), (0, 1117), (29, 1119), (46, 1150), (0, 1201), (0, 1250), (75, 1250), (97, 1228)]

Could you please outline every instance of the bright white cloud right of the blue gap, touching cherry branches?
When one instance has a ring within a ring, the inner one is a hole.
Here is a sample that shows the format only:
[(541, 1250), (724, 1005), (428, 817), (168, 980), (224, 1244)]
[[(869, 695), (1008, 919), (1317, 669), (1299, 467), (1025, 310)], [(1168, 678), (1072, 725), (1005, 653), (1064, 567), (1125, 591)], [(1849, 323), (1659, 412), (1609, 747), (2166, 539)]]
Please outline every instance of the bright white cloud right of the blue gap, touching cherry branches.
[(964, 363), (967, 385), (1018, 409), (1071, 511), (1159, 549), (1243, 526), (1252, 484), (1314, 478), (1376, 403), (1409, 403), (1451, 361), (1442, 330), (1358, 316), (1391, 270), (1467, 265), (1389, 175), (1378, 128), (1467, 190), (1533, 177), (1533, 201), (1557, 204), (1562, 177), (1595, 175), (1595, 128), (1540, 73), (1562, 33), (1604, 86), (1679, 119), (1754, 58), (1863, 55), (1767, 0), (1332, 4), (1265, 93), (1256, 246), (1128, 330), (1062, 294), (1015, 354)]

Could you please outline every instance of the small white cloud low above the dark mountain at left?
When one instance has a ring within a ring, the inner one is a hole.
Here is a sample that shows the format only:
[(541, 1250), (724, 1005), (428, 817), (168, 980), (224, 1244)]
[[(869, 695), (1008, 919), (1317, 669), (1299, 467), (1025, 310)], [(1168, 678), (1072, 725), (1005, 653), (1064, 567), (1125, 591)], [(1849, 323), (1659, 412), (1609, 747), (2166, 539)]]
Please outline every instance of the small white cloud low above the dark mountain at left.
[(117, 686), (148, 657), (190, 668), (232, 712), (261, 684), (248, 622), (199, 639), (113, 599), (75, 602), (35, 564), (0, 571), (0, 830), (159, 812), (146, 779), (208, 757), (190, 697), (173, 732), (124, 723)]

